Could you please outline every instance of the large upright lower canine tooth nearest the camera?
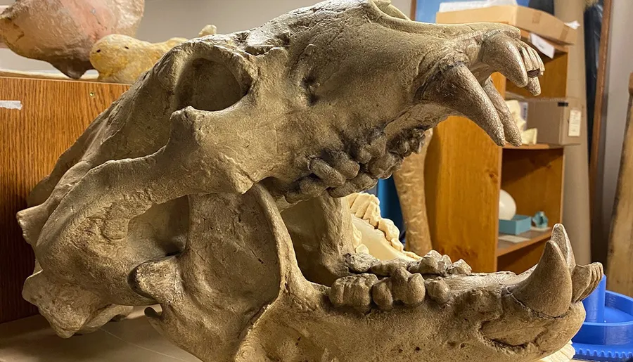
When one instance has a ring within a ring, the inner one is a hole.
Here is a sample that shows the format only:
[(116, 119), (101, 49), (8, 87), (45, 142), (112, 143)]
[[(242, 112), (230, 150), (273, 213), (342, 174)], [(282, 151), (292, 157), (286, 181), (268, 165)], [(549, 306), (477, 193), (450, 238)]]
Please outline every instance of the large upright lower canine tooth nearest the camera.
[(525, 306), (547, 316), (558, 317), (568, 311), (573, 285), (558, 245), (548, 241), (534, 271), (527, 279), (510, 287), (510, 292)]

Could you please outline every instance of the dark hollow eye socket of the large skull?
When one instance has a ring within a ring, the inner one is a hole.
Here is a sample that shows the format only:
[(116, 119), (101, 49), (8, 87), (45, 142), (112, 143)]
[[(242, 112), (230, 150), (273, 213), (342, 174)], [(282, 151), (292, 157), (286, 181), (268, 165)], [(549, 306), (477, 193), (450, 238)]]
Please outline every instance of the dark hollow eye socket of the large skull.
[(176, 86), (177, 109), (224, 110), (245, 96), (231, 69), (223, 63), (197, 58), (185, 65)]

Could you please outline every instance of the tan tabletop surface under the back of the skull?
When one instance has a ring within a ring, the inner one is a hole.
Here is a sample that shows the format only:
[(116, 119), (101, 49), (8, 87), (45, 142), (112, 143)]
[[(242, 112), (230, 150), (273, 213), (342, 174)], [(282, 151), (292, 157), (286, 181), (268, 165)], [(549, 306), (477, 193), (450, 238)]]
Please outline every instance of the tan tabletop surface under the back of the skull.
[(156, 332), (147, 319), (108, 323), (89, 335), (57, 337), (41, 316), (0, 324), (0, 362), (200, 362)]

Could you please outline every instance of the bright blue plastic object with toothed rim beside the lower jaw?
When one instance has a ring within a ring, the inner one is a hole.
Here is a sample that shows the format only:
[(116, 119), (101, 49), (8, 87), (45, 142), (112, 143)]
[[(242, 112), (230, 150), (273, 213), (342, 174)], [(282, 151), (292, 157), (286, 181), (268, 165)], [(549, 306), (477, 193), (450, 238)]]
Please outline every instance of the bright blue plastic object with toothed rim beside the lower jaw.
[(582, 301), (587, 317), (572, 342), (583, 361), (631, 361), (633, 358), (633, 298), (598, 288)]

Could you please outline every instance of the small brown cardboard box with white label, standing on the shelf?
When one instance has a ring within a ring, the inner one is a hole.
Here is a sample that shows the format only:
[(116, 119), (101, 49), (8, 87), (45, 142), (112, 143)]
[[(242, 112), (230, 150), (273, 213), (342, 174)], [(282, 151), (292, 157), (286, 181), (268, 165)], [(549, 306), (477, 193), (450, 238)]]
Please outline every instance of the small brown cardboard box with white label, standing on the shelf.
[(538, 143), (580, 144), (584, 109), (577, 98), (528, 99), (528, 128), (538, 129)]

